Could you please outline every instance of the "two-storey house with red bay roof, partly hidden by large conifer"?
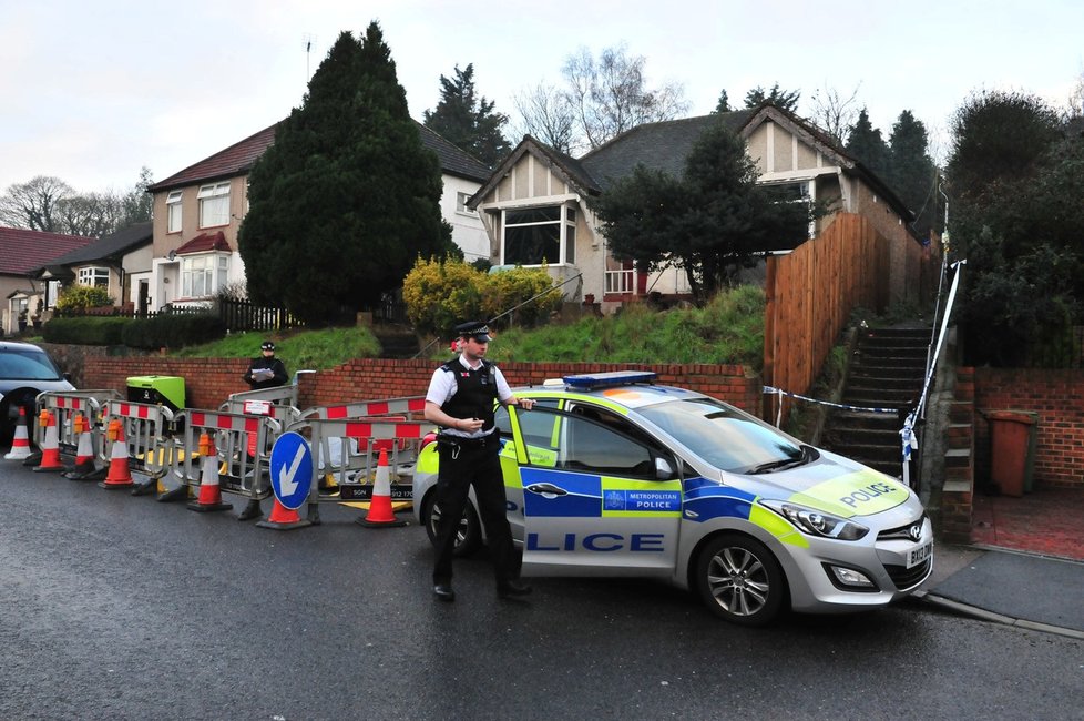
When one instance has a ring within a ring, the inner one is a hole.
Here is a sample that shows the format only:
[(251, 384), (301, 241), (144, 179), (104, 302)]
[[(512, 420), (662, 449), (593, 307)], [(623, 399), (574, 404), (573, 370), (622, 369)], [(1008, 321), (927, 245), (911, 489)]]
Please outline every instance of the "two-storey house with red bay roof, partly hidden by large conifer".
[[(248, 173), (275, 142), (276, 125), (242, 140), (147, 189), (153, 195), (153, 261), (147, 306), (203, 305), (244, 285), (237, 233), (248, 211)], [(442, 217), (468, 261), (489, 257), (489, 238), (468, 201), (490, 170), (428, 128), (421, 143), (440, 161)]]

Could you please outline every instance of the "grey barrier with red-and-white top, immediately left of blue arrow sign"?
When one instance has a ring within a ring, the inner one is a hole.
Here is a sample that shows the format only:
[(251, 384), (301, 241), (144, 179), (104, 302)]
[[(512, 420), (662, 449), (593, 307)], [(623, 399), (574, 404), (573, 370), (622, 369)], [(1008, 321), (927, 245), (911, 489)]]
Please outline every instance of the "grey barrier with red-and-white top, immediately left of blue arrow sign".
[[(270, 416), (185, 408), (177, 413), (176, 423), (184, 427), (182, 446), (185, 453), (174, 456), (172, 470), (183, 485), (200, 486), (200, 436), (206, 433), (214, 439), (222, 461), (218, 485), (223, 491), (253, 500), (270, 496), (269, 449), (283, 433), (280, 422)], [(255, 443), (250, 438), (255, 438)]]

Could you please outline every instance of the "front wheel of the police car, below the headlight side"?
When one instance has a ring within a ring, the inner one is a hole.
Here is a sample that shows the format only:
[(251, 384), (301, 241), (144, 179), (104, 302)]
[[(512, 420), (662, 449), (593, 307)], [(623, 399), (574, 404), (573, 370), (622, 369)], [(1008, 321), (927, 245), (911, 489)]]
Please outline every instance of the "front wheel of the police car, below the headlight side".
[(738, 534), (716, 536), (704, 546), (696, 588), (713, 613), (740, 626), (770, 623), (786, 596), (779, 561), (764, 544)]

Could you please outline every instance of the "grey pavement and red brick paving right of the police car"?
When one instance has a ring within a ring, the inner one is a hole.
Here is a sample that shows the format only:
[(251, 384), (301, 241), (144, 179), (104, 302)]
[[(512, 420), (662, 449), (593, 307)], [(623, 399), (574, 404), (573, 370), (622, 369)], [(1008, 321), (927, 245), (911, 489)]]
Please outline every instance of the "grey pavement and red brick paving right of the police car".
[(1084, 489), (974, 496), (971, 544), (937, 542), (922, 602), (1084, 640)]

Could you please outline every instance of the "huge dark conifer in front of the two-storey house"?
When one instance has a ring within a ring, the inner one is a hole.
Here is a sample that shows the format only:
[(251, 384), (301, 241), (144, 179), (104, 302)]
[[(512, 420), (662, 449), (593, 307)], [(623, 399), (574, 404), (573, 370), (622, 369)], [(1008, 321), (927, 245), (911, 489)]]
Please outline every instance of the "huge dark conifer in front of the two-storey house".
[(380, 27), (344, 32), (249, 175), (249, 297), (313, 325), (352, 318), (419, 255), (453, 252), (441, 192)]

